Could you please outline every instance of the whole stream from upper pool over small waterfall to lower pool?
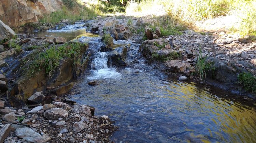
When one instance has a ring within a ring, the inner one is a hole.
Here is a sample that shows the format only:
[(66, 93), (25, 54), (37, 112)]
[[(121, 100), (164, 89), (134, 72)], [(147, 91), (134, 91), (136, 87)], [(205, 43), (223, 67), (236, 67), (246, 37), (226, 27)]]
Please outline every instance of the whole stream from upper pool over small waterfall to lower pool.
[[(76, 23), (80, 24), (81, 23)], [(79, 25), (79, 26), (80, 26)], [(256, 108), (238, 95), (216, 88), (168, 78), (146, 63), (133, 41), (114, 41), (128, 48), (124, 68), (108, 67), (110, 52), (99, 52), (101, 37), (67, 25), (38, 36), (61, 36), (90, 41), (91, 68), (76, 80), (69, 98), (96, 108), (119, 129), (115, 142), (255, 142)], [(75, 29), (69, 31), (69, 29)], [(81, 37), (82, 36), (82, 37)], [(90, 86), (89, 81), (100, 84)]]

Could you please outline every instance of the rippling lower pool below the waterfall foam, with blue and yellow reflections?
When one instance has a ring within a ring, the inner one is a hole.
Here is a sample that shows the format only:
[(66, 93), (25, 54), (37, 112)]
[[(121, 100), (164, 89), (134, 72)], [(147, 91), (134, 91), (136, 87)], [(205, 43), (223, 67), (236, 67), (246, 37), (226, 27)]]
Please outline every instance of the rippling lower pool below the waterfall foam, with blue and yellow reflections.
[[(254, 142), (254, 106), (225, 99), (222, 92), (166, 79), (159, 72), (119, 69), (120, 78), (89, 86), (86, 76), (71, 96), (96, 107), (120, 127), (111, 137), (127, 142)], [(92, 73), (93, 74), (93, 73)], [(162, 80), (165, 79), (165, 80)], [(217, 92), (218, 93), (218, 92)]]

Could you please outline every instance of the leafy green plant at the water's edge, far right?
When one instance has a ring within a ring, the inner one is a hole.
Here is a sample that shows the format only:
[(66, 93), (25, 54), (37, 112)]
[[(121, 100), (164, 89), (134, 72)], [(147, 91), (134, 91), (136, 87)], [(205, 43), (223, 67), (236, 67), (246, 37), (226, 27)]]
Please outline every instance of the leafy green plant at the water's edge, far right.
[(246, 91), (256, 93), (256, 77), (251, 73), (240, 73), (238, 75), (238, 81)]

